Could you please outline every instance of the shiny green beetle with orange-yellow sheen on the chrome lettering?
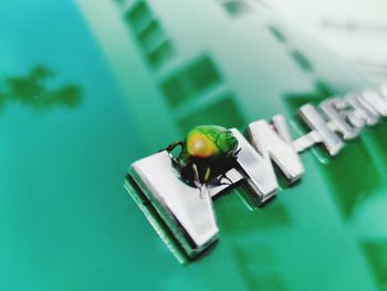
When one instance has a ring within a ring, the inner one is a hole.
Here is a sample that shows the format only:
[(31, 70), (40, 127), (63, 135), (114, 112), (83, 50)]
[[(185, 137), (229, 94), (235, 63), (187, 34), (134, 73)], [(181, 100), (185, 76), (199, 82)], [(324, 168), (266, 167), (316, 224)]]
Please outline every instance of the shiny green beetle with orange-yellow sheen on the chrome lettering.
[(226, 177), (239, 153), (238, 139), (231, 131), (218, 125), (197, 126), (182, 142), (174, 143), (166, 149), (171, 152), (177, 146), (181, 150), (172, 158), (175, 168), (185, 183), (199, 189), (210, 180)]

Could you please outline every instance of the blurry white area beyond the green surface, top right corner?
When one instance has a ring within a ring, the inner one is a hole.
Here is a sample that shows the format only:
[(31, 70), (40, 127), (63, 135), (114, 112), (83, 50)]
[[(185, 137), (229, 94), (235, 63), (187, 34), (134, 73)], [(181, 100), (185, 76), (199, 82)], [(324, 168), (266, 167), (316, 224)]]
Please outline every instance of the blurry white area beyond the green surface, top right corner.
[(262, 3), (374, 79), (387, 81), (386, 1), (262, 0)]

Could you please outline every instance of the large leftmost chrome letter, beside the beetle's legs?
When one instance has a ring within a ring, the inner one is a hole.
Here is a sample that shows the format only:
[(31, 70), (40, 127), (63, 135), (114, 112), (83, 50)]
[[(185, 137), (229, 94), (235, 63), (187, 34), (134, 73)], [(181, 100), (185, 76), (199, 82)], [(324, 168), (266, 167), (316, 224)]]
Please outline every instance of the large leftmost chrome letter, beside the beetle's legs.
[(130, 176), (188, 257), (194, 258), (217, 239), (210, 195), (200, 197), (199, 189), (181, 181), (166, 150), (134, 163)]

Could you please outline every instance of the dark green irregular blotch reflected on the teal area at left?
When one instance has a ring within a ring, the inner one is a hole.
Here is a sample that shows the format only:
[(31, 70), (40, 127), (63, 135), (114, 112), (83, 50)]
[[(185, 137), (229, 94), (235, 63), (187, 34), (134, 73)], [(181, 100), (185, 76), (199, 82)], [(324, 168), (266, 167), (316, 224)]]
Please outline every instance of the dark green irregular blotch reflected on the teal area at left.
[(81, 87), (76, 84), (50, 86), (49, 81), (54, 76), (54, 72), (44, 65), (36, 65), (24, 75), (6, 76), (0, 87), (0, 108), (10, 101), (38, 111), (59, 105), (77, 106), (82, 100)]

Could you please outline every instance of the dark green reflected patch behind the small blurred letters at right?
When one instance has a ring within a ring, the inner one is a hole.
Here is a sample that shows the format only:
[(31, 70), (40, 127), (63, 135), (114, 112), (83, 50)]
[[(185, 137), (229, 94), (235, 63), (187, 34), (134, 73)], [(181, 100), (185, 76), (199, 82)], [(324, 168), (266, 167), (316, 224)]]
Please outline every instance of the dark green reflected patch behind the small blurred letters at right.
[[(296, 108), (306, 103), (318, 104), (328, 96), (336, 94), (339, 93), (330, 89), (324, 82), (318, 82), (315, 93), (289, 95), (284, 100), (289, 107), (295, 112)], [(324, 150), (321, 150), (321, 148), (313, 148), (312, 150), (318, 159), (324, 160), (321, 169), (330, 180), (332, 194), (344, 219), (349, 219), (356, 211), (356, 208), (383, 185), (381, 174), (362, 137), (358, 137), (355, 143), (347, 143), (346, 150), (343, 150), (334, 160), (324, 157)], [(356, 167), (353, 166), (354, 162), (356, 162)], [(351, 183), (348, 183), (349, 180)]]

